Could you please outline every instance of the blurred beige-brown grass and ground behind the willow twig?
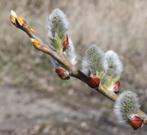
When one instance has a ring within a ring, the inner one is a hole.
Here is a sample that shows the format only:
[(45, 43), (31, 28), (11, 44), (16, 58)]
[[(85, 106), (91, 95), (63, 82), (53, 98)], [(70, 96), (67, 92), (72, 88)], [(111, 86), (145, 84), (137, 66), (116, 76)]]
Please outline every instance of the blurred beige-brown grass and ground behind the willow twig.
[(79, 57), (91, 43), (124, 63), (122, 90), (147, 112), (146, 0), (0, 0), (0, 135), (146, 135), (118, 124), (113, 103), (78, 80), (60, 80), (49, 57), (10, 24), (13, 9), (48, 43), (47, 17), (62, 9)]

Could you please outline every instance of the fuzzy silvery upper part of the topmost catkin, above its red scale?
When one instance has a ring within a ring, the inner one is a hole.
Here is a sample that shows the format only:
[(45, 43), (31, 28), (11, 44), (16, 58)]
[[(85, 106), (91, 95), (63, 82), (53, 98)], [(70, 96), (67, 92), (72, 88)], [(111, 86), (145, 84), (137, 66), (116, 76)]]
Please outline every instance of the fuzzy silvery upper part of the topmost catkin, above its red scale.
[(55, 9), (48, 17), (48, 37), (53, 39), (55, 33), (64, 35), (69, 28), (66, 15), (60, 10)]

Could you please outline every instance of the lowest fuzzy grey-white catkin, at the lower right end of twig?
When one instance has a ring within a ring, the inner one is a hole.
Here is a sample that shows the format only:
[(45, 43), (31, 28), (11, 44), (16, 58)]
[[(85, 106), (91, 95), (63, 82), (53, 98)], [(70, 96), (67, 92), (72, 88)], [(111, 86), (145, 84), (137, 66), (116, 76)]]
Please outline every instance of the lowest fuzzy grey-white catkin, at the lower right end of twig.
[(137, 113), (140, 105), (136, 93), (124, 91), (121, 93), (114, 105), (114, 113), (120, 123), (127, 123), (131, 114)]

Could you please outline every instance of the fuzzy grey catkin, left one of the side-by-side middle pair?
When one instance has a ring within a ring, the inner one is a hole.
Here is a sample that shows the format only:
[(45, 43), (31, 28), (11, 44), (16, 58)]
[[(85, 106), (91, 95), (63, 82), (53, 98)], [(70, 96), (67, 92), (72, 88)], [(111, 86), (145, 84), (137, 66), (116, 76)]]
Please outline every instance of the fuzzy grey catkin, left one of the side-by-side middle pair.
[(104, 52), (95, 44), (92, 44), (85, 52), (82, 61), (82, 71), (85, 74), (95, 74), (107, 70), (107, 65), (104, 63)]

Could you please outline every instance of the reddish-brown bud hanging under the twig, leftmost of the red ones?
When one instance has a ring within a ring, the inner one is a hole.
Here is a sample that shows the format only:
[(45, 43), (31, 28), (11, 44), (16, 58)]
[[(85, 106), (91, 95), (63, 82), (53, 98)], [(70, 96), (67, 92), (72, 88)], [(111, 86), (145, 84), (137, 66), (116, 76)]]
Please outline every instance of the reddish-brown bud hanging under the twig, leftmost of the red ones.
[(63, 67), (57, 67), (55, 69), (55, 72), (58, 74), (58, 76), (63, 79), (63, 80), (66, 80), (66, 79), (69, 79), (70, 76), (69, 76), (69, 72), (67, 70), (65, 70)]

